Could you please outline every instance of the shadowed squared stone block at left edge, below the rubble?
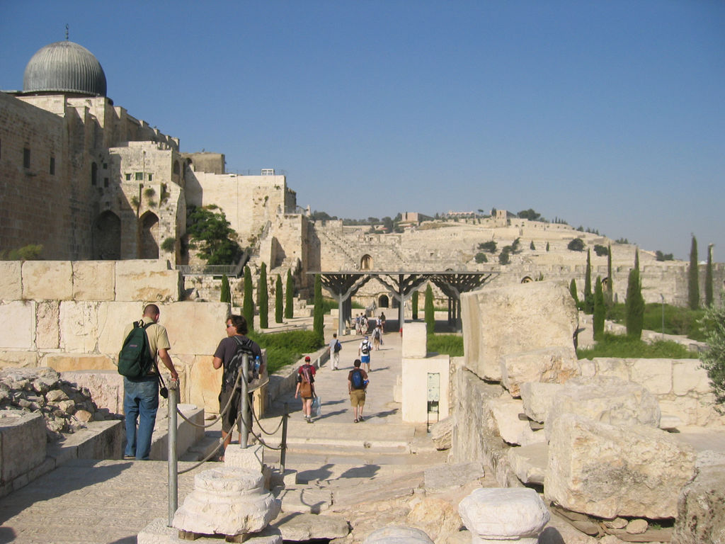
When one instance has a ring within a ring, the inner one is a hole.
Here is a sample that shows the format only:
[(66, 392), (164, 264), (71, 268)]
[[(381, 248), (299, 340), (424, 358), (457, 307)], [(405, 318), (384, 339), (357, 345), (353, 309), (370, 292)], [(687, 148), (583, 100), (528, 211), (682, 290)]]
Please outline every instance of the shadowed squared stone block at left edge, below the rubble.
[(0, 481), (10, 482), (45, 461), (46, 427), (40, 413), (0, 411)]

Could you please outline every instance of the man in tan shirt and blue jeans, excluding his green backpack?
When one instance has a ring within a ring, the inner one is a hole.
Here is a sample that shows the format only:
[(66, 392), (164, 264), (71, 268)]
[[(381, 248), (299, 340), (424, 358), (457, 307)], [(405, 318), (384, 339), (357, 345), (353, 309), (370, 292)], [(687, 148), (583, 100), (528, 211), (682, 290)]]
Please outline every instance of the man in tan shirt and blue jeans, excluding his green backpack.
[[(156, 360), (157, 356), (169, 369), (171, 379), (179, 379), (174, 363), (169, 355), (171, 345), (165, 326), (159, 325), (161, 311), (155, 304), (146, 305), (141, 321), (146, 326), (149, 339), (149, 352)], [(128, 325), (123, 333), (124, 338), (133, 329), (134, 323)], [(156, 425), (156, 412), (159, 409), (159, 368), (154, 362), (146, 376), (128, 378), (123, 376), (123, 413), (125, 413), (126, 448), (124, 458), (136, 458), (148, 461), (151, 453), (151, 437)], [(138, 429), (136, 428), (138, 421)]]

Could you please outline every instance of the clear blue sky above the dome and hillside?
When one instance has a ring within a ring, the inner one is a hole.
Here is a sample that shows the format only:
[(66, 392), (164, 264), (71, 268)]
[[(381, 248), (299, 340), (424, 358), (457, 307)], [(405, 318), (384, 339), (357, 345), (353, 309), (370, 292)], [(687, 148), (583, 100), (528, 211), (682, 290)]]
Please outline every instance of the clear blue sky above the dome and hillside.
[(0, 0), (0, 88), (65, 38), (130, 115), (350, 218), (534, 208), (725, 260), (725, 1)]

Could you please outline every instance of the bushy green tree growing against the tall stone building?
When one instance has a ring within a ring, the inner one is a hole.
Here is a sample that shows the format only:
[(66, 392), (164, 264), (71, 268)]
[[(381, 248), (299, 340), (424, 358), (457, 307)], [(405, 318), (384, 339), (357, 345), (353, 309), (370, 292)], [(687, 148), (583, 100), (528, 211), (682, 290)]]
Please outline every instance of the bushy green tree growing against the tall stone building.
[(231, 265), (241, 257), (236, 232), (226, 215), (216, 205), (190, 207), (186, 218), (186, 233), (191, 236), (189, 247), (199, 250), (199, 257), (210, 265)]

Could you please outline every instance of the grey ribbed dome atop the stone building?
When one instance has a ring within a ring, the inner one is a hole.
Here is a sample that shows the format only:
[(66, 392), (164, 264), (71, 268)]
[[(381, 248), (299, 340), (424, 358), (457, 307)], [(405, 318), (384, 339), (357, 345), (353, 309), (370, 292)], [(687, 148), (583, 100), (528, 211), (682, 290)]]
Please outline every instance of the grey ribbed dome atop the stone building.
[(22, 91), (106, 96), (106, 74), (91, 51), (72, 41), (39, 49), (25, 67)]

